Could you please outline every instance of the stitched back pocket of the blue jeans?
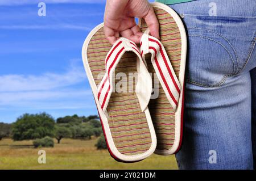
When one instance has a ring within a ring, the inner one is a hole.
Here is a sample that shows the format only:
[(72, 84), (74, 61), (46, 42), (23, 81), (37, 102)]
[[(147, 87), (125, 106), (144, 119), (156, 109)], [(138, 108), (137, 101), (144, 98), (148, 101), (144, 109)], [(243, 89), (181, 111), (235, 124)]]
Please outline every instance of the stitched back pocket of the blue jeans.
[[(184, 15), (188, 31), (187, 82), (203, 87), (221, 86), (236, 75), (239, 57), (235, 45), (246, 18)], [(242, 41), (240, 41), (242, 42)]]

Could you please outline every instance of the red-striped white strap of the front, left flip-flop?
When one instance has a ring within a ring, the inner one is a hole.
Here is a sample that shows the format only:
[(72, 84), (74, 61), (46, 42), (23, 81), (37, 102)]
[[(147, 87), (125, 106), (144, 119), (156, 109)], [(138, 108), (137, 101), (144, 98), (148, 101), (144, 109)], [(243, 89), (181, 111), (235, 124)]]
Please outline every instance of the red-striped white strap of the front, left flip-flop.
[(98, 100), (100, 102), (102, 110), (106, 115), (106, 108), (108, 107), (109, 99), (112, 94), (114, 83), (113, 76), (115, 75), (114, 70), (117, 67), (118, 62), (125, 52), (134, 52), (137, 54), (137, 72), (138, 81), (135, 88), (136, 95), (138, 97), (142, 111), (147, 108), (148, 102), (152, 92), (152, 79), (150, 73), (147, 71), (146, 64), (142, 60), (139, 49), (132, 41), (121, 37), (115, 42), (112, 49), (106, 56), (106, 73), (98, 86)]

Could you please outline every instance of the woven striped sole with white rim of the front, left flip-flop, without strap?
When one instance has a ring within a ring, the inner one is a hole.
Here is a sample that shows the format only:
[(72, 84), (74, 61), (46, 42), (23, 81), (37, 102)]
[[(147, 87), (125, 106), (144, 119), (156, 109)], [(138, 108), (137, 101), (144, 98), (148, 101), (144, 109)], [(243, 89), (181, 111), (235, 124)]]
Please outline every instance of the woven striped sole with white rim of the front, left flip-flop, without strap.
[(127, 77), (122, 81), (115, 79), (115, 85), (127, 83), (127, 91), (112, 92), (107, 108), (108, 117), (102, 112), (97, 99), (97, 85), (102, 79), (100, 75), (105, 73), (105, 57), (111, 48), (112, 45), (105, 38), (102, 23), (86, 38), (82, 48), (82, 60), (110, 154), (118, 161), (136, 162), (154, 153), (156, 148), (154, 126), (148, 108), (144, 112), (141, 111), (135, 93), (136, 81), (128, 78), (129, 73), (137, 72), (137, 56), (133, 52), (126, 52), (115, 69), (115, 75), (121, 73)]

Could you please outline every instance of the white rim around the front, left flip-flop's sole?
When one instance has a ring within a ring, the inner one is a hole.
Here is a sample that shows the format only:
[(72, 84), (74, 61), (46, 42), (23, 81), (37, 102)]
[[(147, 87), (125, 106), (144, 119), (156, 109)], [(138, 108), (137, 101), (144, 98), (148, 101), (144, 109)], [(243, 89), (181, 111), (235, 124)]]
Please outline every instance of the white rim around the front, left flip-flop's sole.
[(150, 134), (151, 134), (150, 149), (148, 149), (144, 153), (137, 154), (137, 155), (125, 155), (125, 154), (120, 153), (118, 151), (118, 149), (115, 147), (115, 144), (114, 144), (114, 141), (113, 141), (113, 138), (112, 138), (112, 134), (110, 132), (109, 124), (108, 124), (108, 118), (106, 117), (106, 115), (102, 111), (100, 103), (98, 102), (97, 85), (94, 82), (93, 75), (92, 75), (92, 72), (90, 71), (90, 66), (89, 66), (89, 63), (88, 63), (88, 60), (87, 60), (87, 48), (88, 48), (88, 44), (89, 44), (90, 40), (92, 39), (93, 35), (98, 30), (100, 30), (100, 28), (102, 28), (102, 27), (104, 27), (104, 23), (101, 23), (97, 27), (95, 27), (89, 33), (89, 35), (86, 37), (86, 39), (84, 41), (84, 45), (82, 46), (82, 61), (84, 62), (84, 68), (85, 68), (85, 71), (86, 71), (86, 75), (89, 79), (90, 87), (92, 87), (93, 96), (94, 96), (94, 99), (95, 99), (95, 102), (96, 102), (96, 106), (98, 108), (98, 112), (99, 112), (100, 117), (101, 117), (102, 124), (104, 126), (105, 136), (106, 136), (106, 140), (108, 140), (108, 147), (109, 147), (110, 151), (112, 152), (114, 157), (116, 157), (117, 159), (120, 159), (121, 161), (125, 161), (125, 162), (140, 161), (144, 158), (149, 157), (152, 153), (154, 153), (155, 148), (156, 148), (155, 129), (154, 129), (154, 125), (152, 124), (152, 120), (151, 120), (151, 116), (150, 116), (150, 112), (148, 111), (148, 108), (146, 108), (146, 110), (144, 112), (145, 112), (145, 115), (146, 115), (148, 128), (150, 129)]

